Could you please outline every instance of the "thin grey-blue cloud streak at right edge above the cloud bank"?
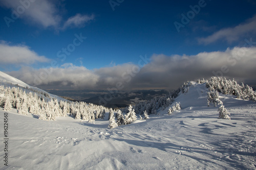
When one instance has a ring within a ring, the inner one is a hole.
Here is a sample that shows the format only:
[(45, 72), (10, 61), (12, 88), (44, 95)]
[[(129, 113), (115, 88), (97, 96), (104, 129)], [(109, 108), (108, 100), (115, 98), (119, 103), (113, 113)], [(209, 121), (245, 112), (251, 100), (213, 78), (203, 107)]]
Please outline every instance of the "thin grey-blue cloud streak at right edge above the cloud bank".
[(225, 40), (228, 43), (231, 43), (239, 40), (241, 37), (244, 38), (244, 36), (248, 33), (255, 35), (255, 28), (256, 15), (236, 27), (221, 29), (208, 37), (199, 38), (198, 42), (203, 44), (210, 44), (218, 40)]

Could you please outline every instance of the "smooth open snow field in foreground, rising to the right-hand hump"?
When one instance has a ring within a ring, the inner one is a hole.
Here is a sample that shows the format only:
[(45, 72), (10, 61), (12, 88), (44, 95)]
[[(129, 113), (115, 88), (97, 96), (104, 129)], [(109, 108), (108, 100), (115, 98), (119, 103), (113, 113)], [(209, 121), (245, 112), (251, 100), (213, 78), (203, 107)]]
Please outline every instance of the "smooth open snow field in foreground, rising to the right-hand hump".
[(108, 117), (95, 124), (72, 117), (44, 121), (13, 109), (7, 112), (8, 166), (1, 161), (0, 168), (256, 169), (256, 104), (220, 94), (231, 120), (218, 119), (206, 92), (205, 84), (194, 83), (175, 99), (180, 112), (167, 115), (166, 108), (115, 129), (108, 129)]

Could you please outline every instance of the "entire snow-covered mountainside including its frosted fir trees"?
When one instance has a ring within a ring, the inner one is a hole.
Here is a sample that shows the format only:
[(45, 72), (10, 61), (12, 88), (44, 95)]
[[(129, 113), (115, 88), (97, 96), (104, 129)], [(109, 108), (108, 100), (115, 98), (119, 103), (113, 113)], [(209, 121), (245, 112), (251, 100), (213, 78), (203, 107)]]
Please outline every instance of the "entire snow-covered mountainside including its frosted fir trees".
[[(118, 120), (115, 116), (109, 120), (112, 109), (38, 94), (0, 73), (2, 101), (11, 93), (15, 97), (18, 92), (11, 89), (18, 87), (26, 94), (22, 101), (34, 96), (45, 101), (46, 104), (38, 104), (41, 109), (59, 105), (59, 114), (65, 107), (71, 109), (65, 116), (46, 121), (39, 119), (40, 114), (35, 111), (30, 112), (32, 105), (26, 114), (20, 114), (13, 102), (10, 109), (5, 109), (2, 102), (0, 119), (3, 123), (8, 117), (8, 135), (4, 137), (2, 128), (0, 147), (7, 147), (8, 151), (1, 150), (0, 156), (5, 160), (8, 153), (8, 166), (2, 161), (1, 169), (256, 168), (256, 103), (255, 91), (250, 87), (222, 78), (188, 82), (164, 98), (122, 109), (124, 118), (133, 112), (137, 117), (130, 124), (110, 129), (113, 118), (114, 123)], [(222, 106), (230, 119), (220, 117)], [(104, 110), (105, 116), (96, 110)], [(45, 113), (49, 112), (55, 114), (51, 109)], [(113, 112), (120, 114), (119, 110)], [(89, 113), (98, 119), (89, 121), (84, 117)], [(4, 138), (8, 138), (7, 145)]]

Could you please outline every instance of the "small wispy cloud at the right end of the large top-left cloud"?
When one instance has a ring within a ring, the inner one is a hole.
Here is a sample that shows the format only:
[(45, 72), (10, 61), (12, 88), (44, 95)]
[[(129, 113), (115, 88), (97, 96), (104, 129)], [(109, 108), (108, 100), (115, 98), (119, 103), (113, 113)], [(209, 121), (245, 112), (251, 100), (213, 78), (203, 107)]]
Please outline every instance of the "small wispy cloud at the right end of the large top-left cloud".
[(85, 23), (94, 20), (95, 16), (92, 14), (89, 15), (81, 15), (76, 14), (75, 16), (70, 17), (64, 24), (63, 29), (66, 29), (68, 27), (84, 27)]

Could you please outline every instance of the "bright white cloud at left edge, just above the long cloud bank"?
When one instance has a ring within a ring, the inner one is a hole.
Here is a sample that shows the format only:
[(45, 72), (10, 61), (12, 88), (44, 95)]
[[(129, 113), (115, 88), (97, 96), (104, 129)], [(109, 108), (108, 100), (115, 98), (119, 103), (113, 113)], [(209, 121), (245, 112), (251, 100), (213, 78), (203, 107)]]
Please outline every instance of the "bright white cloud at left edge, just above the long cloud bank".
[(0, 43), (0, 63), (1, 64), (33, 64), (35, 62), (49, 62), (45, 56), (39, 56), (31, 51), (26, 45), (9, 45), (2, 41)]

